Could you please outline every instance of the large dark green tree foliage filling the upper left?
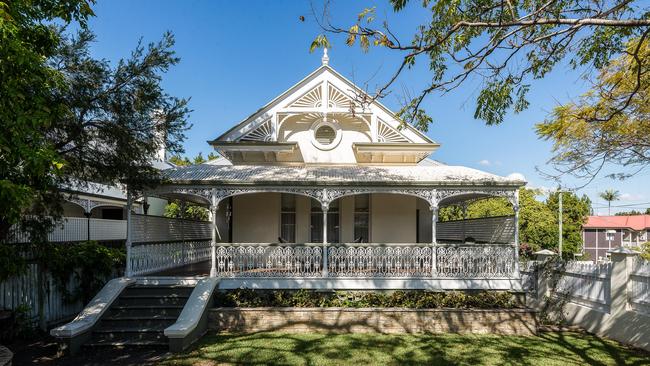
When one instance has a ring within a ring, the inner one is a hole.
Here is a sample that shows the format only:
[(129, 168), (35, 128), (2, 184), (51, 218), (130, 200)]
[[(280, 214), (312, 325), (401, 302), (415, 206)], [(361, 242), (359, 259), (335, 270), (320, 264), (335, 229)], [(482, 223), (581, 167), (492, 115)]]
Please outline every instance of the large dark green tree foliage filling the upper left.
[[(180, 152), (187, 100), (165, 93), (161, 74), (178, 63), (174, 39), (138, 44), (112, 66), (90, 56), (88, 0), (0, 1), (0, 242), (17, 225), (46, 241), (60, 218), (60, 188), (128, 183), (158, 173), (161, 145)], [(63, 26), (78, 22), (70, 36)]]

